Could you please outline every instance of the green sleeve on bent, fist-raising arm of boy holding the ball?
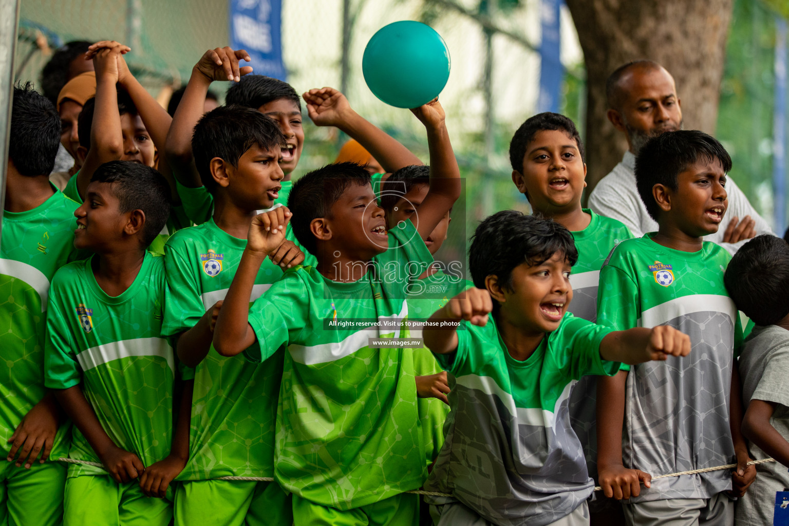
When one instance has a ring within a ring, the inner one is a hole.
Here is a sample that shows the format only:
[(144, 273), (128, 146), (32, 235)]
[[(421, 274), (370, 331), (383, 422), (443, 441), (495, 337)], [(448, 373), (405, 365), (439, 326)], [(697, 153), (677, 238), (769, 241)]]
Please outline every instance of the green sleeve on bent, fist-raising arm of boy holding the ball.
[(249, 325), (255, 331), (258, 345), (245, 350), (247, 360), (267, 360), (282, 345), (297, 340), (308, 325), (309, 291), (300, 272), (305, 270), (287, 270), (282, 279), (271, 285), (249, 308)]

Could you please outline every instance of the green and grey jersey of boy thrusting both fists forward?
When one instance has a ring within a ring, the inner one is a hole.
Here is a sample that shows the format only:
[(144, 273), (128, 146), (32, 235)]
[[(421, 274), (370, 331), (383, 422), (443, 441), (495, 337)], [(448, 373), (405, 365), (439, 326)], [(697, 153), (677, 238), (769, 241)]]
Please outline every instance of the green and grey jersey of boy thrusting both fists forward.
[(457, 351), (436, 355), (449, 373), (452, 410), (424, 488), (451, 493), (502, 526), (552, 524), (581, 505), (594, 483), (570, 427), (568, 400), (581, 376), (619, 371), (618, 362), (600, 358), (600, 341), (610, 332), (568, 312), (519, 361), (492, 317), (484, 327), (464, 322)]

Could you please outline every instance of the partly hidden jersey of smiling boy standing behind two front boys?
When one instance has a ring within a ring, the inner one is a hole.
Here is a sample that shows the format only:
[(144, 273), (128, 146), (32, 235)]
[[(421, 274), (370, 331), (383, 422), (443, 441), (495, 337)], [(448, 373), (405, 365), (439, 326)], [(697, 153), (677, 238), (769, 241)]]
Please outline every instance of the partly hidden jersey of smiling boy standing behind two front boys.
[[(588, 208), (583, 211), (592, 219), (583, 230), (573, 232), (578, 262), (570, 273), (573, 300), (567, 311), (578, 318), (594, 322), (597, 319), (597, 282), (600, 268), (611, 250), (621, 241), (633, 237), (630, 230), (616, 219), (597, 215)], [(597, 377), (585, 376), (578, 381), (570, 395), (570, 423), (584, 446), (589, 476), (597, 479)], [(595, 505), (590, 503), (590, 505)]]

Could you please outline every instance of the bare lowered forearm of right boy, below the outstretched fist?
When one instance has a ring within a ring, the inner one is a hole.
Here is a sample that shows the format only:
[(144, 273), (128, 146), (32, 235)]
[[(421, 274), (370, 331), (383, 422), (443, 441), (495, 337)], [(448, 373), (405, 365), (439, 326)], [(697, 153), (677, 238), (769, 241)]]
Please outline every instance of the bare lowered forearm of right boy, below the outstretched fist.
[(597, 378), (597, 464), (622, 464), (627, 371)]

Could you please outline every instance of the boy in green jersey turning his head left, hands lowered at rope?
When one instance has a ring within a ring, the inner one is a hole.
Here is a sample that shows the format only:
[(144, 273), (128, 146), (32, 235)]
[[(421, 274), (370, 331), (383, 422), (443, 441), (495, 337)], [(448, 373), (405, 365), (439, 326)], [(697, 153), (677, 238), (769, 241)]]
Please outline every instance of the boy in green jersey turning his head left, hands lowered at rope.
[(166, 525), (170, 502), (141, 486), (173, 427), (164, 261), (145, 250), (170, 213), (170, 188), (150, 166), (113, 161), (85, 197), (74, 246), (94, 254), (54, 275), (44, 348), (44, 382), (74, 424), (64, 524)]

